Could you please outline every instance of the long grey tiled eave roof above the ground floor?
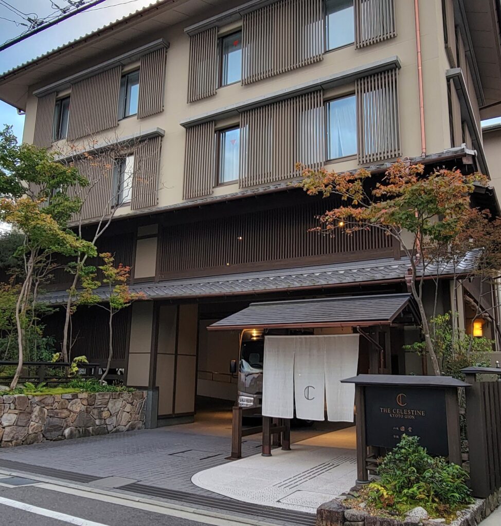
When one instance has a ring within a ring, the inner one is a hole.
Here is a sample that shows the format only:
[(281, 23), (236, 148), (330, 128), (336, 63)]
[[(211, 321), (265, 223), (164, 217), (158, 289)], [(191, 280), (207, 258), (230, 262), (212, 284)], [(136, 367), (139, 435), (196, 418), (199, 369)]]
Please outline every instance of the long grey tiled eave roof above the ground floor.
[[(466, 272), (473, 268), (475, 254), (461, 261), (456, 273)], [(406, 258), (371, 259), (350, 263), (336, 263), (312, 267), (299, 267), (281, 270), (261, 270), (244, 274), (225, 274), (222, 276), (205, 276), (165, 280), (158, 283), (141, 283), (131, 286), (133, 292), (143, 292), (149, 299), (203, 298), (210, 296), (231, 296), (304, 288), (335, 287), (374, 281), (393, 281), (405, 279), (409, 269)], [(440, 268), (440, 275), (453, 273), (453, 265)], [(428, 275), (436, 274), (432, 268)], [(106, 299), (107, 290), (97, 289), (96, 294)], [(48, 292), (43, 300), (52, 305), (65, 301), (66, 291)]]

